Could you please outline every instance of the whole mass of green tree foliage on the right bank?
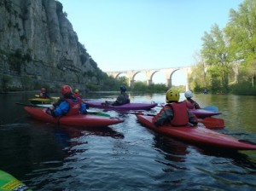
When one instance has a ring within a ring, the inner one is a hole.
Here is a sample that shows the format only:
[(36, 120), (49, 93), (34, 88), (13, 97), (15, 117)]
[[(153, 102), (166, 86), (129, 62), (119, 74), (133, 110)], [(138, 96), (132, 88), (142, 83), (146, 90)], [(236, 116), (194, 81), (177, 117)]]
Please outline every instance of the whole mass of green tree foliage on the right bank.
[(255, 0), (245, 0), (237, 11), (230, 9), (230, 21), (224, 29), (214, 24), (210, 32), (205, 32), (201, 39), (201, 60), (197, 62), (189, 78), (194, 90), (201, 90), (207, 84), (212, 91), (228, 92), (237, 83), (255, 84)]

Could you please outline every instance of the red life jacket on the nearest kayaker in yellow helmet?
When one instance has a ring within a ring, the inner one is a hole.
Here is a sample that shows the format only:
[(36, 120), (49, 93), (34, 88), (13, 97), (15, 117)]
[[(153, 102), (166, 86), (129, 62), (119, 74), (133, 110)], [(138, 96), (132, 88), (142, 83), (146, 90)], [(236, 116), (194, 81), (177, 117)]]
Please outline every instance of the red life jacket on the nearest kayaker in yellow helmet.
[(183, 126), (189, 123), (189, 113), (184, 101), (170, 104), (173, 110), (173, 126)]

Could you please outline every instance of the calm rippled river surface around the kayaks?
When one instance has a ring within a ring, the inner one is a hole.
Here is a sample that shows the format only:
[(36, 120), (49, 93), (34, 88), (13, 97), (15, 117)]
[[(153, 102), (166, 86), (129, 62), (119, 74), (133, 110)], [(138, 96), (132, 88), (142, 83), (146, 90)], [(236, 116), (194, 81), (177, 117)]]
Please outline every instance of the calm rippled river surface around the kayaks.
[[(0, 169), (33, 190), (256, 189), (256, 151), (200, 148), (148, 130), (133, 114), (114, 111), (108, 113), (125, 122), (96, 130), (41, 123), (15, 104), (29, 103), (33, 95), (0, 95)], [(85, 96), (105, 101), (117, 95)], [(165, 102), (165, 94), (130, 96), (131, 102)], [(219, 132), (256, 142), (256, 96), (194, 98), (201, 107), (218, 106), (218, 118), (226, 124)]]

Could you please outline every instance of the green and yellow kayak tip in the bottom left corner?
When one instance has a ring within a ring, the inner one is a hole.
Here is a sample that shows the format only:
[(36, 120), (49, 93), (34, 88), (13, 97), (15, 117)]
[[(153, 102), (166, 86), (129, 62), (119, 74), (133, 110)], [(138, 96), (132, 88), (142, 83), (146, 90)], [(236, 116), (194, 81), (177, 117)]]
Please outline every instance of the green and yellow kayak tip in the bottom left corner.
[(32, 191), (23, 182), (20, 182), (9, 173), (0, 170), (0, 190)]

